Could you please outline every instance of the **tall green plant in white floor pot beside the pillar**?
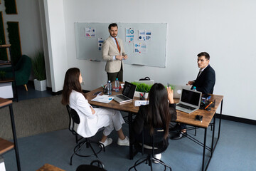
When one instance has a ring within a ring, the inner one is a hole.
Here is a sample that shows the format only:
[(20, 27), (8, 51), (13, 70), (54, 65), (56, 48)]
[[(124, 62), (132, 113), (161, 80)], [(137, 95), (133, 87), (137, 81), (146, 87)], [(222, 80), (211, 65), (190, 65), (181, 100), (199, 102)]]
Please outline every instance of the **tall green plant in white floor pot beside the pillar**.
[(36, 90), (46, 90), (46, 64), (43, 52), (38, 51), (32, 59), (33, 73), (36, 79), (33, 80)]

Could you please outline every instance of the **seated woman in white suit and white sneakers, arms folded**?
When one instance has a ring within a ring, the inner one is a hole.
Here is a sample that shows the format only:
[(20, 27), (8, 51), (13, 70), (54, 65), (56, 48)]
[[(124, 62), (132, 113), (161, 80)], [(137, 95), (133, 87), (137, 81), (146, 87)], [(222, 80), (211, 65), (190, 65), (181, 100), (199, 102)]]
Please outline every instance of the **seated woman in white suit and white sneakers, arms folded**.
[(124, 136), (122, 132), (122, 124), (124, 119), (118, 110), (106, 108), (92, 108), (82, 93), (81, 84), (82, 76), (78, 68), (70, 68), (65, 73), (65, 81), (63, 85), (63, 105), (70, 105), (80, 117), (80, 124), (77, 125), (77, 133), (83, 137), (91, 137), (97, 133), (97, 130), (104, 127), (102, 144), (110, 145), (112, 138), (107, 138), (112, 130), (116, 130), (119, 136), (118, 145), (129, 146), (129, 138)]

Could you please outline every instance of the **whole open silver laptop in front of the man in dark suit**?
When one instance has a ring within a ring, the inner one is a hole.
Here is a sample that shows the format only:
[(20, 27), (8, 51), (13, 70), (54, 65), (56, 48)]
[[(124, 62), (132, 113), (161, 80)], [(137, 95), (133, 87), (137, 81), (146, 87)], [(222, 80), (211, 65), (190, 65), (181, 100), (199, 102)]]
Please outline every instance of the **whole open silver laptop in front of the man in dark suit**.
[(200, 108), (202, 93), (195, 90), (182, 89), (180, 102), (176, 105), (176, 110), (185, 113), (193, 113)]

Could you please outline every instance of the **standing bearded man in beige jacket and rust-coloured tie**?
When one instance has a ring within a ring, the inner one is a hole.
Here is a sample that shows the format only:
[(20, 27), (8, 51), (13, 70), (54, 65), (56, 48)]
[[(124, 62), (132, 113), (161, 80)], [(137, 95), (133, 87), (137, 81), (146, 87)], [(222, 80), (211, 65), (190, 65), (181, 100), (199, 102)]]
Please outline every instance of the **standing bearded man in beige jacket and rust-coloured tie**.
[(122, 40), (117, 38), (117, 24), (110, 24), (108, 28), (110, 36), (102, 45), (103, 59), (107, 61), (105, 67), (107, 80), (112, 82), (118, 78), (119, 81), (123, 81), (123, 60), (126, 60), (128, 56), (124, 52), (124, 44), (122, 43)]

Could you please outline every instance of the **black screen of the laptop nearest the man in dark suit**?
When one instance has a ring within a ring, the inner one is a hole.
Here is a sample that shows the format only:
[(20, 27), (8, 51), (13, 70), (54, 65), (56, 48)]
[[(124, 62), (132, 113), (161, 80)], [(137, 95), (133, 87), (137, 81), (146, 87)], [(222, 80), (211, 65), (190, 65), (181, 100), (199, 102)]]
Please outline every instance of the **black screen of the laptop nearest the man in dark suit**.
[(201, 93), (198, 91), (182, 89), (181, 102), (198, 106), (201, 102), (200, 97)]

